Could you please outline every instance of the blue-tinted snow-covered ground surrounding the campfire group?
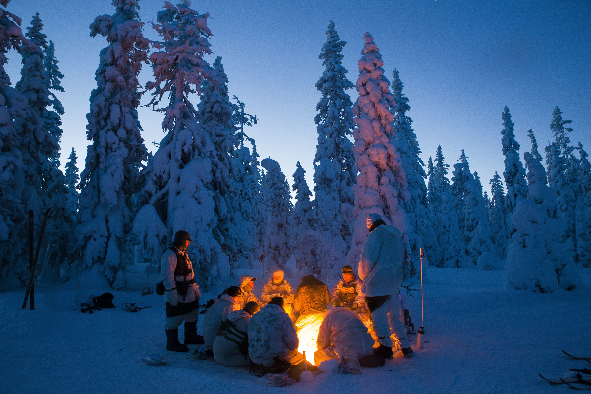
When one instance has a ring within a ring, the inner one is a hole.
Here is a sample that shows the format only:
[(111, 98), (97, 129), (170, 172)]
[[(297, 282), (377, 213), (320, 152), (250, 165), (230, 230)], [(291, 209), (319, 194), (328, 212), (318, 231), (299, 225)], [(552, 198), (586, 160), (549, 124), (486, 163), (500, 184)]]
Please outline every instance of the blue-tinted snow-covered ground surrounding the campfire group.
[[(551, 294), (504, 291), (503, 271), (434, 268), (424, 284), (424, 349), (363, 375), (326, 373), (285, 389), (259, 383), (248, 368), (226, 368), (213, 360), (165, 349), (164, 304), (156, 294), (113, 292), (112, 310), (73, 311), (75, 281), (41, 288), (35, 311), (21, 310), (23, 292), (0, 294), (0, 392), (2, 393), (562, 393), (538, 377), (564, 376), (589, 367), (571, 354), (591, 356), (591, 269), (580, 269), (584, 286)], [(257, 281), (260, 291), (263, 280)], [(418, 287), (415, 286), (413, 287)], [(82, 281), (81, 301), (108, 291), (100, 282)], [(212, 294), (206, 294), (212, 297)], [(202, 300), (206, 299), (204, 297)], [(152, 305), (139, 312), (122, 302)], [(421, 318), (419, 292), (406, 299), (415, 327)], [(203, 315), (200, 315), (200, 324)], [(182, 325), (180, 328), (181, 340)], [(191, 350), (195, 345), (190, 345)], [(170, 365), (140, 360), (161, 354)]]

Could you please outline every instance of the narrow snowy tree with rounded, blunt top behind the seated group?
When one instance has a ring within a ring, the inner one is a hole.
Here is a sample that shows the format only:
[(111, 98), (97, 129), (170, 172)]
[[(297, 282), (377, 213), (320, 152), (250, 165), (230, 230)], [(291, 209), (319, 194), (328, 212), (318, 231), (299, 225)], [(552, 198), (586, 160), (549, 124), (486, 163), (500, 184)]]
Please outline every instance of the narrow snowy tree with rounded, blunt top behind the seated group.
[(262, 159), (267, 174), (263, 179), (262, 194), (267, 204), (267, 229), (263, 241), (266, 269), (281, 268), (291, 254), (290, 189), (279, 163), (271, 158)]

